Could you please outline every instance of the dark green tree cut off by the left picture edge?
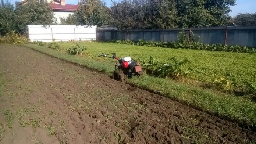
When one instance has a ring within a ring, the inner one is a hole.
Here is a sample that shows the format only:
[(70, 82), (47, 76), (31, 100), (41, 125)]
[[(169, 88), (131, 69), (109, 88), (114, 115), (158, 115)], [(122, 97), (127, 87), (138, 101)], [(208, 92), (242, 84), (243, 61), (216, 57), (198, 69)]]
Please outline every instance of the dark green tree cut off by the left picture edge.
[(10, 1), (1, 0), (0, 6), (0, 35), (6, 35), (15, 29), (15, 12)]

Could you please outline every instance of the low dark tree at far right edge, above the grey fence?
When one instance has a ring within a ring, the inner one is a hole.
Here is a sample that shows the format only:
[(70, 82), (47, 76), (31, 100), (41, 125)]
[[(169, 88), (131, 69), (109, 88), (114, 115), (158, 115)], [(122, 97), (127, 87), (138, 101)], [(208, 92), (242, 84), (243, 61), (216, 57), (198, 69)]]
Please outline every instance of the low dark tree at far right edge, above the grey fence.
[(256, 12), (254, 14), (239, 13), (235, 18), (235, 25), (237, 26), (256, 26)]

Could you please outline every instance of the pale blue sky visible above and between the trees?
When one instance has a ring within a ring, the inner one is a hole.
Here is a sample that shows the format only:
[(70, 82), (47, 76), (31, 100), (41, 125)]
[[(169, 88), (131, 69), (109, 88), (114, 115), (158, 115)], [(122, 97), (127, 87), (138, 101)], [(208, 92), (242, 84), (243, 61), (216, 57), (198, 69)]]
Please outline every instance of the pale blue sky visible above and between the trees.
[[(15, 5), (15, 1), (21, 1), (21, 0), (11, 0), (11, 3)], [(111, 0), (105, 0), (107, 3), (107, 6), (111, 6)], [(78, 0), (66, 0), (67, 4), (77, 4)], [(235, 16), (238, 13), (255, 13), (256, 12), (256, 0), (237, 0), (235, 6), (230, 6), (231, 16)]]

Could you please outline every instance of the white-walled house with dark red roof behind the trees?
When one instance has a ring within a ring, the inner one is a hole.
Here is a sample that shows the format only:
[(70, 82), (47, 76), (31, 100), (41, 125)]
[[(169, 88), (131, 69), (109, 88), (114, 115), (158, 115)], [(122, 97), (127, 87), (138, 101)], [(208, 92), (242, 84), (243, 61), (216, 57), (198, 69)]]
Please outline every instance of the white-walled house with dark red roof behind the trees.
[[(21, 2), (16, 2), (16, 7), (25, 3), (28, 0), (21, 0)], [(68, 17), (69, 14), (74, 14), (77, 10), (77, 4), (66, 4), (66, 0), (46, 0), (50, 3), (50, 6), (54, 12), (54, 16), (57, 19), (57, 23), (60, 24), (60, 18)]]

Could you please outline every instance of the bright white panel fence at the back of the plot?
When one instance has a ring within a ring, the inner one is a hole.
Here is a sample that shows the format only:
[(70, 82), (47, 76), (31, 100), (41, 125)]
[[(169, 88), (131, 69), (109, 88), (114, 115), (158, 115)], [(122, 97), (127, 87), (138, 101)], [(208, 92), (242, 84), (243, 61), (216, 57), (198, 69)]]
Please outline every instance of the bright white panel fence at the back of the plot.
[(52, 42), (68, 40), (96, 40), (97, 26), (28, 25), (26, 35), (31, 41)]

